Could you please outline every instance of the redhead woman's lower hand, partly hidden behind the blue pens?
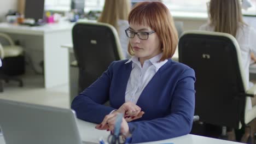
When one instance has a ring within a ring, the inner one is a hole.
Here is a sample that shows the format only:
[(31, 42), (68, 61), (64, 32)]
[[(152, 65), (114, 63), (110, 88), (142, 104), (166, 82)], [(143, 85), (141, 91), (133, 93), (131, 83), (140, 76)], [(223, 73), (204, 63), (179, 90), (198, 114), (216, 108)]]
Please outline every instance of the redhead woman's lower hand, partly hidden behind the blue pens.
[[(101, 124), (96, 125), (95, 128), (99, 130), (114, 131), (117, 116), (117, 112), (106, 115)], [(129, 134), (129, 126), (128, 123), (125, 121), (124, 117), (122, 118), (120, 133), (123, 134), (124, 136)]]

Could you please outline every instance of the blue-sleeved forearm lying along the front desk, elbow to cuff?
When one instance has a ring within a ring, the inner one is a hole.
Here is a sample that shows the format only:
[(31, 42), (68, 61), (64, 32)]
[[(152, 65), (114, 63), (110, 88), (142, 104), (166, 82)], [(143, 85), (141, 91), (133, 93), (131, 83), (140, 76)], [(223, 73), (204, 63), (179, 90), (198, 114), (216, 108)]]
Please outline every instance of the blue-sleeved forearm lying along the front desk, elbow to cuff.
[(193, 119), (181, 115), (168, 115), (151, 121), (129, 122), (132, 143), (158, 141), (190, 133)]

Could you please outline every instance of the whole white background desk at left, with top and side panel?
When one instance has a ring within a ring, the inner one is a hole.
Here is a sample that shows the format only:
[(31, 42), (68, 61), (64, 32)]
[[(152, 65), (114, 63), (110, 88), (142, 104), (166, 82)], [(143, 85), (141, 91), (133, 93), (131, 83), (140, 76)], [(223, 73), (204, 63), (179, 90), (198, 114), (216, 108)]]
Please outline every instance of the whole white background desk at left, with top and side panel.
[(61, 44), (72, 43), (73, 25), (61, 22), (29, 27), (0, 23), (0, 32), (20, 41), (37, 70), (44, 60), (44, 87), (50, 88), (68, 83), (68, 50), (61, 49)]

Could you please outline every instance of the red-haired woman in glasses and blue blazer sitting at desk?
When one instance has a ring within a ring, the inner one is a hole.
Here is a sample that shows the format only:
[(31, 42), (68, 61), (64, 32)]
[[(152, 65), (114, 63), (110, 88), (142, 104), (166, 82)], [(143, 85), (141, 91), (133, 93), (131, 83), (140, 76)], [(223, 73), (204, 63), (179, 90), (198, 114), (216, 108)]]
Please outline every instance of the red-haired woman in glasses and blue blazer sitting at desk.
[[(188, 134), (195, 105), (195, 73), (172, 61), (178, 44), (170, 11), (161, 2), (135, 5), (125, 29), (132, 57), (112, 62), (92, 85), (73, 100), (77, 117), (113, 131), (123, 113), (120, 132), (131, 143)], [(109, 100), (110, 106), (103, 105)]]

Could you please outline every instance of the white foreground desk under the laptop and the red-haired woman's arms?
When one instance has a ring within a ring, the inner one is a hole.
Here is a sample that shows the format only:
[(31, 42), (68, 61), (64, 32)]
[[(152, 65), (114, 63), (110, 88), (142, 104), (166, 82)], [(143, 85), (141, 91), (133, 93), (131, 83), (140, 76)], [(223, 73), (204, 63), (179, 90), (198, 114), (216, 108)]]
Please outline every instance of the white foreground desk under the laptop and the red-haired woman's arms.
[[(82, 137), (82, 140), (84, 141), (90, 141), (90, 142), (98, 142), (98, 139), (100, 137), (103, 137), (103, 139), (107, 139), (107, 136), (109, 135), (108, 131), (105, 130), (97, 130), (95, 129), (94, 123), (89, 123), (85, 121), (81, 121), (78, 119), (78, 128), (80, 135)], [(0, 136), (0, 144), (4, 144), (3, 136)], [(216, 144), (216, 143), (222, 143), (222, 144), (238, 144), (239, 142), (232, 142), (232, 141), (225, 141), (225, 140), (219, 140), (219, 139), (212, 139), (209, 137), (204, 136), (197, 136), (197, 135), (184, 135), (180, 137), (176, 137), (173, 139), (167, 139), (162, 141), (154, 141), (154, 142), (146, 142), (148, 144), (153, 143), (174, 143), (174, 144)]]

